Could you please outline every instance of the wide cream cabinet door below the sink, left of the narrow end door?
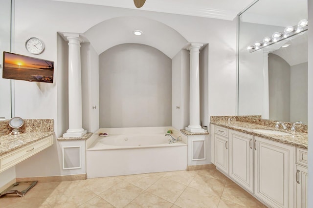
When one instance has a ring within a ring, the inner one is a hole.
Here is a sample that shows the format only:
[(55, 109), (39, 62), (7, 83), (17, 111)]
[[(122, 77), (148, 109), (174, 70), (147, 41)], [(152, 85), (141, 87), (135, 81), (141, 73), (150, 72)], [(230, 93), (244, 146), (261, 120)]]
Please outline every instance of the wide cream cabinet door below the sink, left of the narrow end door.
[(254, 194), (275, 208), (293, 208), (294, 147), (255, 137)]

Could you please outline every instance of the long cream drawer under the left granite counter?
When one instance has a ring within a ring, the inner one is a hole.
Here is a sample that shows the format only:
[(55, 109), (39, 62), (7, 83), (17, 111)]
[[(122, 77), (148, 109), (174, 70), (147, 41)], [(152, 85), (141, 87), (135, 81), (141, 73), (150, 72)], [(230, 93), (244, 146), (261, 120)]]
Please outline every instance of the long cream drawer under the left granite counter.
[(40, 152), (41, 150), (51, 146), (53, 143), (53, 136), (46, 137), (31, 145), (24, 146), (20, 149), (14, 150), (4, 156), (0, 157), (0, 171), (9, 167), (15, 166), (26, 158)]

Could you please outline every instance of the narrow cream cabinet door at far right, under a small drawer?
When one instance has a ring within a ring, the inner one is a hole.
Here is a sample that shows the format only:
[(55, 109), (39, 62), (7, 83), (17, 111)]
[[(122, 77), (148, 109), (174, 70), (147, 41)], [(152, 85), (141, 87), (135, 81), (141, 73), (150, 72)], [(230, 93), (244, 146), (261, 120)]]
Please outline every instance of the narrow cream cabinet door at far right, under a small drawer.
[(296, 165), (296, 208), (308, 208), (308, 168)]

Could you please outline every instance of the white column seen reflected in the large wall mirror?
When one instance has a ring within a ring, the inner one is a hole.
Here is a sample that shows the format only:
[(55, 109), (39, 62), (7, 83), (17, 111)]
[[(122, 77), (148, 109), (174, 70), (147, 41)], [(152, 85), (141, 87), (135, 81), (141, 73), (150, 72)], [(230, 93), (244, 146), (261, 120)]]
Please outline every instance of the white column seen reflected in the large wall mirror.
[(262, 119), (269, 119), (268, 51), (263, 51), (263, 113)]

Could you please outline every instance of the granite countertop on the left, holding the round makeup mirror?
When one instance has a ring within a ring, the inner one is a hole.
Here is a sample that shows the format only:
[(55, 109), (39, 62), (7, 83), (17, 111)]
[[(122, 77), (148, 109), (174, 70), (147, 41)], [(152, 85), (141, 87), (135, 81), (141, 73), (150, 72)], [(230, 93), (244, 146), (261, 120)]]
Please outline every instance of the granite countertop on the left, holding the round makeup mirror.
[(25, 132), (18, 135), (5, 135), (0, 137), (0, 156), (30, 145), (45, 137), (53, 135), (54, 132)]

